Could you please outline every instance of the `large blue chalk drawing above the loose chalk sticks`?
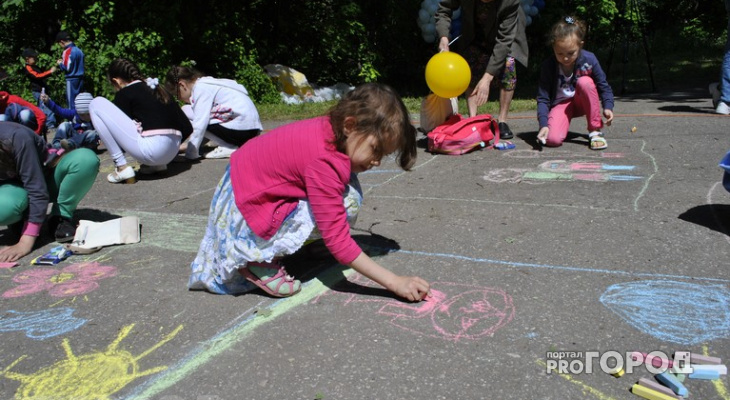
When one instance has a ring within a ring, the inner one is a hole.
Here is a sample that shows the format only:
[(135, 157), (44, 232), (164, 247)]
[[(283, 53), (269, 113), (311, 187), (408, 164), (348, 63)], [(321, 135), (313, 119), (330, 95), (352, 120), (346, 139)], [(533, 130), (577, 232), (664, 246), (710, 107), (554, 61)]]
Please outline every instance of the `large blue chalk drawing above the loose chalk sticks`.
[(696, 345), (730, 337), (730, 290), (722, 285), (637, 281), (610, 286), (601, 303), (658, 339)]

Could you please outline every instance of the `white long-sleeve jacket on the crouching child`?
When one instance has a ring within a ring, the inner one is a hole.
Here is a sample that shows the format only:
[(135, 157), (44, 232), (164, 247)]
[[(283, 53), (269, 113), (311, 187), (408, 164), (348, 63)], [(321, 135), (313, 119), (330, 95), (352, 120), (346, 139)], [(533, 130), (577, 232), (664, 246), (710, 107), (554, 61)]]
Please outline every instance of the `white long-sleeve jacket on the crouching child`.
[(204, 76), (193, 85), (190, 95), (193, 109), (193, 133), (185, 157), (198, 158), (200, 144), (208, 125), (221, 124), (233, 130), (262, 129), (256, 106), (248, 90), (231, 79)]

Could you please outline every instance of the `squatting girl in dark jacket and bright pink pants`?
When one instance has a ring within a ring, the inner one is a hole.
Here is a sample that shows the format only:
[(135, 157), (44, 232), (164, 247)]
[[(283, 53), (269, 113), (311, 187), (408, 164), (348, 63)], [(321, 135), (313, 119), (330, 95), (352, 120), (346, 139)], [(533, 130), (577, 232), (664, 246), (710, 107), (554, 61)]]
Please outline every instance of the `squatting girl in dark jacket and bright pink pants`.
[(590, 148), (608, 147), (601, 132), (602, 116), (611, 125), (613, 91), (596, 56), (583, 50), (585, 33), (585, 24), (574, 17), (566, 17), (551, 30), (555, 56), (543, 61), (537, 90), (537, 140), (546, 146), (562, 145), (570, 120), (585, 115)]

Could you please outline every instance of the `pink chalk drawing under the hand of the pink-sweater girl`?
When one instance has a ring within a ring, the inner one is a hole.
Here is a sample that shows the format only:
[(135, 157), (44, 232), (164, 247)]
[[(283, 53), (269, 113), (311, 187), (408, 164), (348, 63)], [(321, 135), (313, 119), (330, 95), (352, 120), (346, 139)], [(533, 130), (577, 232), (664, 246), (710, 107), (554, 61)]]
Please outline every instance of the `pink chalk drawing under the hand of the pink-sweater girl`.
[[(351, 282), (369, 284), (361, 275), (354, 275)], [(319, 301), (320, 297), (312, 302)], [(433, 282), (431, 297), (418, 303), (349, 293), (345, 305), (369, 302), (384, 303), (377, 314), (388, 316), (389, 322), (398, 328), (455, 342), (493, 336), (515, 314), (512, 297), (504, 290), (451, 282)]]

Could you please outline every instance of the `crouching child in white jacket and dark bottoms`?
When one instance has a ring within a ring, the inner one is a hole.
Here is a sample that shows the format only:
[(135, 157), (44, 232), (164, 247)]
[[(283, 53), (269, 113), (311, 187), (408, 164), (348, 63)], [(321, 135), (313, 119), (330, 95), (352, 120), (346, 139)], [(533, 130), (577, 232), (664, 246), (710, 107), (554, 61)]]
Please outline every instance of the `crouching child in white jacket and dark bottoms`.
[(166, 87), (186, 103), (183, 111), (193, 124), (187, 144), (181, 146), (185, 157), (200, 157), (203, 138), (218, 147), (205, 158), (228, 158), (249, 139), (261, 133), (261, 120), (246, 88), (230, 79), (217, 79), (193, 68), (179, 65), (167, 72)]

